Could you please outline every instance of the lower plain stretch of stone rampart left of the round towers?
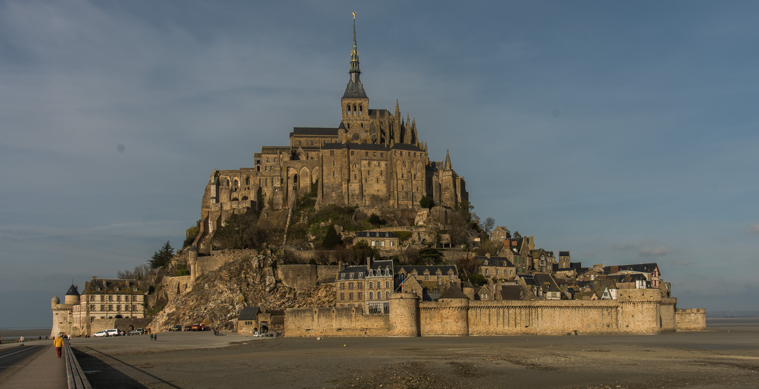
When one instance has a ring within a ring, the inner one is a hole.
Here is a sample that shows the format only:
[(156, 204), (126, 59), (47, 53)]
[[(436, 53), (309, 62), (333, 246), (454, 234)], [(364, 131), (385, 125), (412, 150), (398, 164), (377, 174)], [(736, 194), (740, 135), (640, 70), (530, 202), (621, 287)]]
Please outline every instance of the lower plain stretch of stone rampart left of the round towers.
[(345, 308), (291, 308), (285, 311), (288, 337), (386, 336), (389, 315), (364, 315), (354, 306)]

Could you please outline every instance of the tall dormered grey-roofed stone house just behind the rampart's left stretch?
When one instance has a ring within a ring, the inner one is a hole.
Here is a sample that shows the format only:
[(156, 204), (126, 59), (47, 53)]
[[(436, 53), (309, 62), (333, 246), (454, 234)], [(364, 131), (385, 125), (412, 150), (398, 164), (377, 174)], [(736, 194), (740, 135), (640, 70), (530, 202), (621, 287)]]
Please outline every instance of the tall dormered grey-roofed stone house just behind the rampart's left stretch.
[(392, 261), (367, 258), (367, 265), (341, 265), (335, 279), (335, 306), (355, 306), (367, 314), (389, 312), (393, 275)]

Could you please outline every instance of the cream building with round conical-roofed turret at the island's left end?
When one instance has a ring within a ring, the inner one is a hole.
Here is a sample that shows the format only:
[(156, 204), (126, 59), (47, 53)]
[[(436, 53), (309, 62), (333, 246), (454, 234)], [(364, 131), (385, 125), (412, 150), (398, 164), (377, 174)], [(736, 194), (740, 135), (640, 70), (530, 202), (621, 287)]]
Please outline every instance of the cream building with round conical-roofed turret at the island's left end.
[[(73, 336), (91, 335), (93, 323), (105, 319), (141, 319), (145, 317), (145, 295), (135, 280), (96, 278), (84, 283), (83, 293), (73, 284), (64, 303), (52, 298), (51, 336), (64, 332)], [(126, 328), (129, 325), (126, 324)]]

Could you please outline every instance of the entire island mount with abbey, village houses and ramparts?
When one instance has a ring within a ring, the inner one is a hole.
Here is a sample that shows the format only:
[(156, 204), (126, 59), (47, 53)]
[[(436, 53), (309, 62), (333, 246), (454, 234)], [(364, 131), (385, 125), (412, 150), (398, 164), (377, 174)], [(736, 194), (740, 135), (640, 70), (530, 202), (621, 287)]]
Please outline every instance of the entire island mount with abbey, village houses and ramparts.
[(295, 127), (288, 146), (254, 153), (252, 168), (214, 170), (183, 247), (153, 269), (72, 284), (63, 303), (52, 299), (52, 334), (198, 323), (292, 337), (706, 327), (704, 309), (677, 309), (656, 263), (572, 262), (480, 220), (449, 154), (430, 160), (399, 102), (369, 108), (355, 25), (349, 74), (337, 127)]

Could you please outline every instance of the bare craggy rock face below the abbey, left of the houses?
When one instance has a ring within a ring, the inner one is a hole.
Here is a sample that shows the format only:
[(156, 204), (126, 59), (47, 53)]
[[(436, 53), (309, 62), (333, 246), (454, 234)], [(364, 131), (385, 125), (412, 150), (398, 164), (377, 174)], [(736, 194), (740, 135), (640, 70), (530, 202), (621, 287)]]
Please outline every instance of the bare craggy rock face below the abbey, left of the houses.
[(276, 263), (267, 256), (240, 259), (197, 278), (190, 289), (169, 301), (150, 323), (153, 331), (173, 325), (203, 323), (234, 330), (244, 306), (263, 310), (329, 306), (334, 284), (317, 284), (310, 290), (296, 290), (276, 278)]

